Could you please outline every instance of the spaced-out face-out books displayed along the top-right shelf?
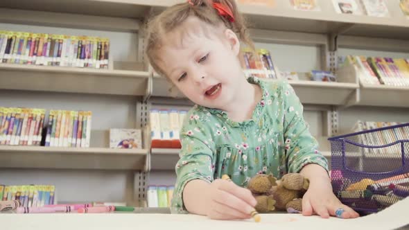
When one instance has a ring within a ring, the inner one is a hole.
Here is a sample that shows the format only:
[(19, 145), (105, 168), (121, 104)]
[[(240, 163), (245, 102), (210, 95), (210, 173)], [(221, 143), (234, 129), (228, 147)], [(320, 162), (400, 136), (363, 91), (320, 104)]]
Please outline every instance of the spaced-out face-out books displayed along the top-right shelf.
[[(290, 7), (302, 11), (322, 11), (320, 0), (288, 0)], [(275, 0), (238, 0), (238, 3), (256, 6), (275, 7)], [(386, 0), (332, 0), (339, 14), (390, 17)], [(409, 17), (409, 0), (397, 0), (404, 15)]]

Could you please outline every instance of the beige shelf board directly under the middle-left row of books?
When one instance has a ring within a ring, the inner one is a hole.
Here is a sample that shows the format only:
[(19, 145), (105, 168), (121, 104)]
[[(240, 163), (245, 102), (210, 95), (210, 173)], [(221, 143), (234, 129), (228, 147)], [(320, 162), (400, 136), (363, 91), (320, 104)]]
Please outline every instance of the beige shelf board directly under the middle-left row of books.
[(0, 145), (0, 168), (143, 170), (148, 150)]

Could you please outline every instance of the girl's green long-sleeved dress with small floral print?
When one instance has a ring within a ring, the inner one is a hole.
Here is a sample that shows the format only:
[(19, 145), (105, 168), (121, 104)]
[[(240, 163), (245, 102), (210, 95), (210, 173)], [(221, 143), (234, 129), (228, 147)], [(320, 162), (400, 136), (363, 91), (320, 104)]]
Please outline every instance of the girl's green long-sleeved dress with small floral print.
[(284, 80), (247, 79), (263, 91), (250, 120), (235, 122), (222, 110), (199, 105), (187, 114), (180, 132), (182, 150), (175, 167), (172, 213), (187, 213), (182, 192), (193, 179), (211, 183), (227, 174), (245, 187), (256, 174), (272, 173), (281, 178), (299, 172), (308, 163), (328, 170), (293, 87)]

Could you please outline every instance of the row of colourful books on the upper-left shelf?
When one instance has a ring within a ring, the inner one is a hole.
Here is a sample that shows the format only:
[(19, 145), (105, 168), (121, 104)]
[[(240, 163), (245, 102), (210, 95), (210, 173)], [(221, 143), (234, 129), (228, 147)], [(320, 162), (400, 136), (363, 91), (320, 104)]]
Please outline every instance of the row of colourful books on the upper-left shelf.
[(0, 62), (108, 69), (110, 40), (0, 30)]

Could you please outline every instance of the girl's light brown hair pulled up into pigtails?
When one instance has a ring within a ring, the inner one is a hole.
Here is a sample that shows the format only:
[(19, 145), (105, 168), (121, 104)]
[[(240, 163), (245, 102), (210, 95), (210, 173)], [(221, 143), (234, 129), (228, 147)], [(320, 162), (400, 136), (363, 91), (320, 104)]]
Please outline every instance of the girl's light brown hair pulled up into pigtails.
[[(229, 19), (220, 16), (218, 11), (213, 8), (213, 3), (221, 3), (226, 8), (229, 8), (234, 16), (234, 21), (229, 21)], [(197, 17), (200, 21), (214, 27), (223, 23), (226, 28), (236, 33), (238, 39), (248, 46), (254, 47), (247, 35), (245, 20), (238, 12), (235, 0), (191, 0), (190, 2), (179, 3), (167, 8), (153, 20), (150, 20), (146, 30), (146, 56), (153, 69), (162, 76), (164, 76), (164, 71), (157, 64), (156, 51), (164, 43), (162, 39), (164, 35), (180, 26), (189, 17)]]

